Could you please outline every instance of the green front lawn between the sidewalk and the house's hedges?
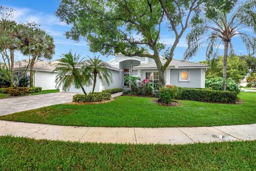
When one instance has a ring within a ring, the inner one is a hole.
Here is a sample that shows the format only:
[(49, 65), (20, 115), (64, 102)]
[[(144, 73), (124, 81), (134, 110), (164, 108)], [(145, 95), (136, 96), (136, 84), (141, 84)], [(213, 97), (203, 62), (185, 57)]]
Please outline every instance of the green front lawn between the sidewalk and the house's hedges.
[[(101, 104), (58, 104), (12, 115), (2, 120), (52, 125), (103, 127), (191, 127), (256, 123), (256, 93), (241, 92), (242, 104), (180, 101), (164, 107), (153, 98), (119, 96)], [(31, 104), (33, 105), (33, 104)]]

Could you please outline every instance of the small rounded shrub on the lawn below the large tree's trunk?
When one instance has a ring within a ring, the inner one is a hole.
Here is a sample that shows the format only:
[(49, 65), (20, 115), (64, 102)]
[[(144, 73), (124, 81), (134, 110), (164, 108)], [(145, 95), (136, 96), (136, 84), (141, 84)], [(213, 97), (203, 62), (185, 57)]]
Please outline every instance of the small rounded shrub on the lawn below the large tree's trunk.
[(177, 86), (161, 87), (159, 89), (159, 101), (168, 104), (177, 96), (177, 92)]

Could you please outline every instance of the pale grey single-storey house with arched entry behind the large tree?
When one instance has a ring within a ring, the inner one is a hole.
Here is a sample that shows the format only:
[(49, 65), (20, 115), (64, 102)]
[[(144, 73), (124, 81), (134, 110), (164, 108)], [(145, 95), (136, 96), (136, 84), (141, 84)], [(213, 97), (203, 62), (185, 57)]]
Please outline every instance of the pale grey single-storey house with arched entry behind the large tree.
[[(165, 59), (161, 59), (165, 62)], [(97, 81), (95, 92), (101, 92), (104, 89), (126, 87), (124, 77), (127, 75), (140, 77), (141, 80), (149, 79), (154, 83), (159, 81), (156, 63), (148, 57), (127, 57), (123, 54), (116, 54), (113, 60), (106, 63), (107, 68), (112, 74), (113, 82), (108, 86), (105, 83)], [(210, 68), (206, 64), (188, 62), (183, 60), (172, 60), (164, 73), (166, 85), (176, 85), (180, 87), (204, 88), (205, 71)], [(92, 90), (92, 86), (84, 87), (86, 92)], [(60, 91), (63, 91), (60, 88)], [(76, 89), (71, 86), (67, 92), (82, 93), (82, 89)]]

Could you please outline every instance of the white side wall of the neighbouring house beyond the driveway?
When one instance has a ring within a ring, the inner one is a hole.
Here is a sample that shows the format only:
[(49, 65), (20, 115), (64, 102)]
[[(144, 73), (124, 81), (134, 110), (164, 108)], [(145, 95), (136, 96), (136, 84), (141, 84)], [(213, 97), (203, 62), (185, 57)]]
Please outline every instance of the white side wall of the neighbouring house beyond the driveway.
[(42, 87), (43, 90), (56, 89), (55, 78), (58, 73), (51, 71), (35, 71), (34, 73), (35, 87)]

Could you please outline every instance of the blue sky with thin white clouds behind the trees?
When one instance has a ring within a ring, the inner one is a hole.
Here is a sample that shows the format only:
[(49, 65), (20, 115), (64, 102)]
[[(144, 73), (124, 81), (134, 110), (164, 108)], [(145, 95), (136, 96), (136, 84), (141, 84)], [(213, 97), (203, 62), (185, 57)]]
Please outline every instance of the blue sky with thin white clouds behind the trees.
[[(17, 22), (36, 22), (40, 25), (41, 29), (44, 29), (47, 32), (47, 34), (53, 36), (55, 44), (53, 60), (60, 59), (62, 54), (65, 54), (70, 50), (72, 52), (80, 53), (82, 56), (93, 57), (94, 54), (90, 52), (89, 46), (85, 40), (76, 43), (65, 37), (65, 31), (69, 31), (71, 26), (67, 26), (65, 23), (60, 22), (58, 17), (54, 15), (54, 12), (58, 9), (59, 3), (60, 1), (58, 0), (0, 0), (0, 5), (12, 7), (16, 10), (15, 20)], [(181, 37), (178, 47), (174, 51), (174, 59), (183, 60), (183, 53), (187, 48), (186, 34), (188, 31), (189, 29), (185, 31), (185, 34)], [(252, 32), (250, 29), (243, 31)], [(161, 41), (167, 45), (171, 45), (174, 41), (173, 32), (170, 32), (167, 29), (162, 29)], [(238, 37), (234, 37), (233, 44), (237, 55), (247, 54), (245, 46)], [(197, 55), (190, 61), (197, 62), (205, 60), (205, 46), (206, 45), (204, 45)], [(220, 46), (219, 54), (223, 54), (223, 45)], [(100, 54), (97, 53), (95, 55), (98, 56)], [(21, 60), (25, 59), (25, 56), (16, 54), (15, 58), (16, 60)], [(100, 55), (100, 59), (103, 61), (109, 61), (113, 58), (114, 56)]]

